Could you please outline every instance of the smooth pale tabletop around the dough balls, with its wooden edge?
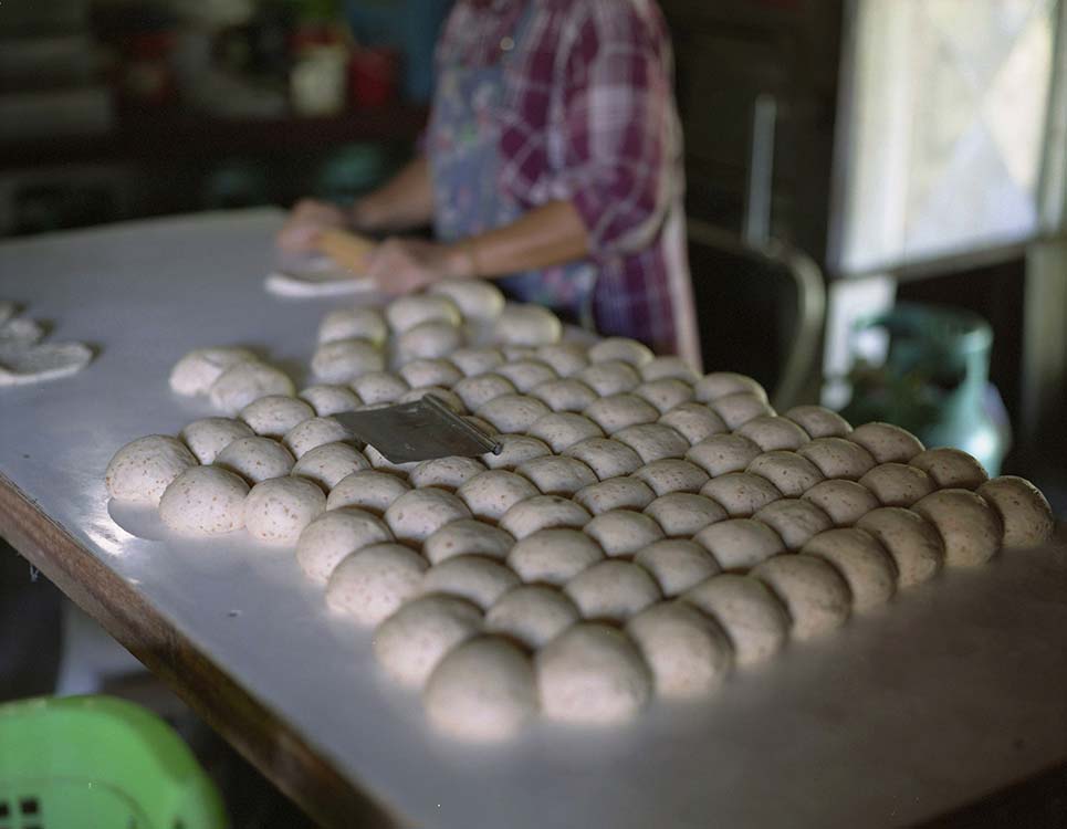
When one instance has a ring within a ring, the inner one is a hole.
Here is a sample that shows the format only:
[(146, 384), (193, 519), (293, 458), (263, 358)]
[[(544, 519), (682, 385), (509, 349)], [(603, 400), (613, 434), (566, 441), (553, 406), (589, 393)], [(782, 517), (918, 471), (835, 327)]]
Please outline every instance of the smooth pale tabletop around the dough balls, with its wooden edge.
[(306, 379), (344, 301), (262, 290), (280, 221), (0, 244), (0, 298), (100, 349), (76, 377), (0, 391), (0, 532), (324, 825), (899, 826), (1067, 760), (1061, 544), (945, 573), (704, 702), (479, 747), (430, 730), (292, 549), (124, 531), (103, 485), (115, 450), (212, 413), (169, 391), (182, 354), (248, 344)]

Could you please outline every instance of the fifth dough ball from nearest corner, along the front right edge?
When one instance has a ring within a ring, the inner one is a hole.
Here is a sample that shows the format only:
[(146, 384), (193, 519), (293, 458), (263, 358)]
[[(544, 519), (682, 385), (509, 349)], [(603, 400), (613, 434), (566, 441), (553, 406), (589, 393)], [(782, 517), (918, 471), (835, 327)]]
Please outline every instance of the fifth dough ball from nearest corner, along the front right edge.
[(797, 639), (814, 639), (848, 621), (852, 604), (848, 584), (822, 558), (803, 553), (775, 556), (752, 575), (782, 599)]

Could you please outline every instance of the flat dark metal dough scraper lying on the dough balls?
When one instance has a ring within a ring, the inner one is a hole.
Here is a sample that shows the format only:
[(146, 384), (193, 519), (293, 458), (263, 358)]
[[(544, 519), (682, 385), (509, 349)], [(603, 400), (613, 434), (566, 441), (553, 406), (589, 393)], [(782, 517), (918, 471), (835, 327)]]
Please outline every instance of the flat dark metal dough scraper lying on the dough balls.
[(429, 461), (449, 455), (500, 454), (500, 443), (453, 413), (433, 395), (410, 403), (333, 416), (356, 438), (391, 463)]

